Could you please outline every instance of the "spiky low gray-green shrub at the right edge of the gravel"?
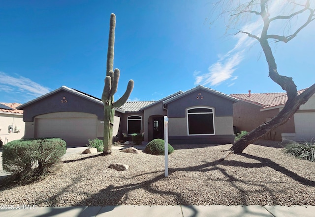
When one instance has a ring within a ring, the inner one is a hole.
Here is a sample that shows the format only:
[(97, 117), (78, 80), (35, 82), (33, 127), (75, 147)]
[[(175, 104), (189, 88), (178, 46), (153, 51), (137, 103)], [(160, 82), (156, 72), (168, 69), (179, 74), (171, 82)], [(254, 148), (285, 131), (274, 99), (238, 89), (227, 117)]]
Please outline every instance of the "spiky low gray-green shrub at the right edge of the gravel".
[(284, 148), (284, 152), (299, 159), (315, 161), (315, 142), (305, 142), (300, 144), (291, 142)]

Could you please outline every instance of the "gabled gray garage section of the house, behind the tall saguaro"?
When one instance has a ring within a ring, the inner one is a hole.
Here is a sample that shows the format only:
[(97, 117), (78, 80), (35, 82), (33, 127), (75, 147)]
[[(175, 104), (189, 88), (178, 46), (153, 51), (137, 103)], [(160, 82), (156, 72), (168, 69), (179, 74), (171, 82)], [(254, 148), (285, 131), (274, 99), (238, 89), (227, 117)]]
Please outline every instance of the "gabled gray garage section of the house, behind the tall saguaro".
[[(66, 86), (23, 104), (20, 108), (24, 110), (24, 138), (60, 137), (67, 146), (85, 146), (89, 139), (103, 136), (103, 102)], [(115, 109), (116, 134), (121, 112)]]

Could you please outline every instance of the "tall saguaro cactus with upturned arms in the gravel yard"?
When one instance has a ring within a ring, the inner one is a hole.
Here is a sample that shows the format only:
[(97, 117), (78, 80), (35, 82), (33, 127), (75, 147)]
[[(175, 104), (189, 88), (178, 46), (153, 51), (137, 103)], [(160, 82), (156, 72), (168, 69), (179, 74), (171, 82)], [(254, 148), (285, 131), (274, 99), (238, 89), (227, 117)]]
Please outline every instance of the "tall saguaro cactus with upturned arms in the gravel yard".
[(114, 43), (115, 43), (115, 26), (116, 16), (110, 15), (109, 24), (109, 38), (108, 38), (108, 51), (107, 51), (107, 66), (106, 66), (106, 78), (105, 85), (102, 94), (102, 101), (104, 102), (104, 150), (103, 154), (109, 155), (112, 153), (113, 144), (113, 126), (115, 107), (119, 108), (124, 105), (130, 96), (133, 89), (133, 80), (130, 80), (127, 85), (124, 95), (114, 102), (114, 94), (117, 92), (118, 80), (120, 76), (119, 69), (113, 71), (114, 66)]

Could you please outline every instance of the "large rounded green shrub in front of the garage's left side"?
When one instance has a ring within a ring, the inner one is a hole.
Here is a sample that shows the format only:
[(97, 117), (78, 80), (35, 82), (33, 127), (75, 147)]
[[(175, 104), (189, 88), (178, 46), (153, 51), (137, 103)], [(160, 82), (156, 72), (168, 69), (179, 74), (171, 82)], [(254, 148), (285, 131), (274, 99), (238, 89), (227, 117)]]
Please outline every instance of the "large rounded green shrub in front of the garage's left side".
[(20, 139), (8, 142), (2, 151), (4, 171), (19, 179), (40, 176), (65, 154), (66, 143), (60, 138)]

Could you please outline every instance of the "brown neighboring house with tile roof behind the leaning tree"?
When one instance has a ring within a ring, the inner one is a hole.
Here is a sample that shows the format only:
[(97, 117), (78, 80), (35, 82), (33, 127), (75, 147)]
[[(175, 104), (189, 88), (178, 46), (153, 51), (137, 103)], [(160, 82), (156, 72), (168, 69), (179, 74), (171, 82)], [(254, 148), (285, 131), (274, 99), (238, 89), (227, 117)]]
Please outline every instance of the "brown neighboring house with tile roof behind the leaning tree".
[[(298, 94), (305, 89), (299, 90)], [(252, 131), (259, 125), (276, 116), (285, 105), (286, 93), (231, 94), (239, 99), (233, 105), (233, 124), (236, 131)], [(315, 139), (315, 95), (282, 126), (263, 137), (267, 140), (312, 141)]]

